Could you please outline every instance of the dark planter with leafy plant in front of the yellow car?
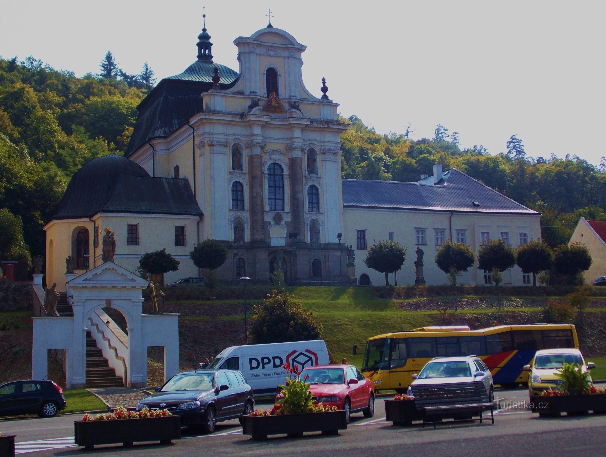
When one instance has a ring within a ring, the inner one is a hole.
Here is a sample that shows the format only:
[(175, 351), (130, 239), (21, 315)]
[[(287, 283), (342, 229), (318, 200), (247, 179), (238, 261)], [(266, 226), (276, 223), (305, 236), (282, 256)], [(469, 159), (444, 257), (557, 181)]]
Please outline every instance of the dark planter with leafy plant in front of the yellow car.
[(581, 365), (564, 364), (556, 377), (563, 381), (559, 389), (545, 390), (541, 396), (530, 398), (533, 413), (541, 417), (606, 413), (606, 388), (591, 385), (589, 373), (583, 372)]

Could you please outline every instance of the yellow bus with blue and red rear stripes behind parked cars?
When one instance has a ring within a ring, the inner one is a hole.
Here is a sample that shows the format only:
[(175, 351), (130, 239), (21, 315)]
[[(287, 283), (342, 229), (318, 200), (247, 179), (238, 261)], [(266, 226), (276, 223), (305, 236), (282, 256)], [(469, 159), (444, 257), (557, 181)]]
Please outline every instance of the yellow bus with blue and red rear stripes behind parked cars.
[[(434, 357), (476, 355), (505, 389), (528, 383), (528, 365), (539, 349), (579, 349), (574, 325), (499, 325), (470, 330), (467, 325), (421, 329), (373, 336), (366, 342), (362, 373), (375, 390), (405, 393), (411, 376)], [(356, 353), (356, 345), (354, 345)]]

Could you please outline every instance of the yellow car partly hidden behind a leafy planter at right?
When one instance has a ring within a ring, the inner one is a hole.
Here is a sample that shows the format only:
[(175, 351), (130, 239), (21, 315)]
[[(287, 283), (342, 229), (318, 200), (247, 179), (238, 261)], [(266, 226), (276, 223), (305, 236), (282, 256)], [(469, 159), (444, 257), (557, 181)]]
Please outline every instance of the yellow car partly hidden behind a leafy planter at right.
[[(579, 364), (583, 372), (596, 367), (593, 362), (587, 362), (578, 349), (543, 349), (537, 351), (530, 365), (524, 366), (528, 376), (528, 391), (530, 396), (539, 396), (544, 390), (557, 389), (564, 382), (556, 377), (558, 369), (563, 364)], [(591, 376), (590, 376), (591, 380)]]

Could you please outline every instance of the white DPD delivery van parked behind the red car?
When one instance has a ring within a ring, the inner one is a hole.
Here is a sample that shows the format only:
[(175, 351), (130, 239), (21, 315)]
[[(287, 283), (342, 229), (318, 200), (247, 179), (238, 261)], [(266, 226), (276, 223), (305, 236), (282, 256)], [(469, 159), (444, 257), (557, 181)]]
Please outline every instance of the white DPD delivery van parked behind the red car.
[(255, 396), (265, 396), (274, 395), (278, 385), (286, 382), (285, 363), (297, 365), (299, 370), (328, 365), (324, 340), (231, 346), (222, 350), (208, 368), (239, 370)]

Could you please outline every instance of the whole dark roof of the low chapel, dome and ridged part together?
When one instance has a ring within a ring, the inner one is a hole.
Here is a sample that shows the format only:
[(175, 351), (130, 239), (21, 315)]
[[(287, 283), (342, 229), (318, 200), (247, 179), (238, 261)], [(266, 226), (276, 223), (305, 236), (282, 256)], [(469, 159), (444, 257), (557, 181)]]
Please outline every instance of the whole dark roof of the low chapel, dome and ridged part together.
[(73, 175), (52, 219), (99, 212), (202, 214), (187, 179), (152, 178), (141, 165), (113, 154), (88, 161)]

